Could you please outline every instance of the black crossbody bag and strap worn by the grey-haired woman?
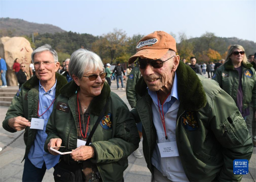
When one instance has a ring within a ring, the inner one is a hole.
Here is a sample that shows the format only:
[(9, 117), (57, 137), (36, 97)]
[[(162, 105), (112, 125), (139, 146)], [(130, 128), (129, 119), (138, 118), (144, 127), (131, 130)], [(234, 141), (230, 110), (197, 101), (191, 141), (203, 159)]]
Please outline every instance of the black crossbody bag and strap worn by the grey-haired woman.
[[(109, 100), (109, 99), (108, 99)], [(108, 106), (108, 100), (103, 108), (101, 110), (100, 115), (95, 122), (94, 126), (92, 127), (92, 131), (90, 132), (90, 135), (88, 136), (88, 139), (86, 141), (86, 146), (89, 146), (92, 135), (94, 134), (96, 128), (98, 127), (100, 120), (103, 118), (104, 113)], [(60, 182), (60, 181), (83, 181), (83, 172), (82, 172), (82, 163), (79, 163), (78, 165), (68, 165), (63, 160), (60, 161), (55, 167), (53, 172), (54, 181)]]

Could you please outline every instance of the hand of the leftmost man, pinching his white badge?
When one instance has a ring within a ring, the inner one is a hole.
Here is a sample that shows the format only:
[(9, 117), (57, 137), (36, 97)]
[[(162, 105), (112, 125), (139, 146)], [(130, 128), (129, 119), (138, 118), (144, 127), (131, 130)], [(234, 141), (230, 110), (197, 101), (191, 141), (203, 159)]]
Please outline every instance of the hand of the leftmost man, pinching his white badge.
[(26, 127), (30, 127), (31, 126), (30, 123), (31, 122), (28, 122), (26, 118), (23, 118), (21, 116), (17, 116), (8, 120), (9, 127), (17, 131), (23, 130)]

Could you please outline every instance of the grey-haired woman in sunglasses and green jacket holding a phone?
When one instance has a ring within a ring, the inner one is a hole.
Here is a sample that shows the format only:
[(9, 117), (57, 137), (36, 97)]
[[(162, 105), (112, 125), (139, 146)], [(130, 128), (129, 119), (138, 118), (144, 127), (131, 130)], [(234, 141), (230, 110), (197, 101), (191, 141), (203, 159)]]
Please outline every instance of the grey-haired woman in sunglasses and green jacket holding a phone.
[(52, 155), (64, 148), (62, 152), (69, 151), (61, 153), (54, 179), (123, 181), (127, 157), (140, 142), (135, 121), (124, 102), (110, 91), (98, 55), (76, 50), (68, 68), (73, 81), (60, 89), (46, 126), (44, 150)]

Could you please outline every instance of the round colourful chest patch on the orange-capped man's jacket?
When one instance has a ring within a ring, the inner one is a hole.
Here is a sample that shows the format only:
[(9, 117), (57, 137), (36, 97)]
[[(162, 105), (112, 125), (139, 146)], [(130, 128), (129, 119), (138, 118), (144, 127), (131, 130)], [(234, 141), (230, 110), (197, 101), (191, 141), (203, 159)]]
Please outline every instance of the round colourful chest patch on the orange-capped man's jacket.
[(196, 121), (196, 113), (186, 111), (181, 117), (181, 124), (187, 131), (195, 131), (198, 129)]

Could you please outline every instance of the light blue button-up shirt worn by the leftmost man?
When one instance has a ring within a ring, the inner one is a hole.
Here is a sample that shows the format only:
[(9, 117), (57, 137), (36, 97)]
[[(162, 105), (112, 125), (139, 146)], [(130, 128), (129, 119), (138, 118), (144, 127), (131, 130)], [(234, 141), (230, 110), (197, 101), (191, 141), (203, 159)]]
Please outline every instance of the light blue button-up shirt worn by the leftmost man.
[[(52, 104), (55, 98), (56, 83), (57, 80), (55, 81), (55, 84), (52, 86), (52, 88), (49, 91), (45, 92), (44, 87), (41, 85), (39, 81), (39, 116), (43, 114), (46, 111), (46, 109), (48, 109)], [(37, 130), (34, 144), (31, 146), (28, 153), (28, 159), (31, 161), (32, 164), (34, 164), (34, 166), (41, 169), (45, 162), (47, 170), (55, 166), (60, 159), (60, 155), (53, 156), (52, 154), (48, 154), (47, 152), (44, 151), (44, 143), (47, 138), (45, 129), (48, 119), (52, 113), (52, 109), (53, 104), (41, 117), (38, 117), (44, 120), (44, 130)]]

